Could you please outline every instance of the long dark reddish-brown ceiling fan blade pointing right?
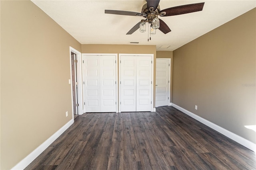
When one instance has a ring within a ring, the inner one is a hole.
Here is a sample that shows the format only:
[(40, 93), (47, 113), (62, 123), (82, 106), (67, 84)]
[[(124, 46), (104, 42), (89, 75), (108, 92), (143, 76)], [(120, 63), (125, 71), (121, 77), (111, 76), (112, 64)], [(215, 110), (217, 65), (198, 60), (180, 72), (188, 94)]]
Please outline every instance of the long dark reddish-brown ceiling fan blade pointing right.
[(160, 13), (166, 12), (166, 14), (163, 16), (176, 16), (176, 15), (180, 15), (180, 14), (187, 14), (187, 13), (191, 13), (191, 12), (202, 11), (203, 7), (204, 7), (204, 2), (197, 3), (197, 4), (175, 6), (175, 7), (161, 10)]

